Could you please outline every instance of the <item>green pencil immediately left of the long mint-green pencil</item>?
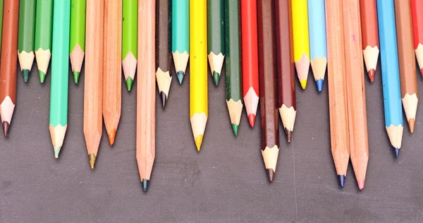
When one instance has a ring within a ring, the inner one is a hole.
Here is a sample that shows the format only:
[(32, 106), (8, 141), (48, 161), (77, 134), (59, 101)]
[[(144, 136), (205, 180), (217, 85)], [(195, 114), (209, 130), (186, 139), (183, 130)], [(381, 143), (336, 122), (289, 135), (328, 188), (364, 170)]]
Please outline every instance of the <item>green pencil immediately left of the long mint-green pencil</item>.
[(53, 0), (37, 0), (35, 19), (35, 59), (39, 82), (44, 83), (51, 58), (51, 35), (53, 33)]

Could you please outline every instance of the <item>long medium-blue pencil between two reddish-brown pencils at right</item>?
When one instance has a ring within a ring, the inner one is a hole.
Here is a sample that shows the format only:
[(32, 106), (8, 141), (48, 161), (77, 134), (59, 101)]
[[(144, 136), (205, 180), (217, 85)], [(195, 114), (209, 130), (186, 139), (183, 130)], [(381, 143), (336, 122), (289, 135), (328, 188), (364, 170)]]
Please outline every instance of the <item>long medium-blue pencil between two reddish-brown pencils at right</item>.
[(384, 86), (385, 126), (396, 158), (403, 138), (403, 110), (393, 0), (377, 0), (382, 83)]

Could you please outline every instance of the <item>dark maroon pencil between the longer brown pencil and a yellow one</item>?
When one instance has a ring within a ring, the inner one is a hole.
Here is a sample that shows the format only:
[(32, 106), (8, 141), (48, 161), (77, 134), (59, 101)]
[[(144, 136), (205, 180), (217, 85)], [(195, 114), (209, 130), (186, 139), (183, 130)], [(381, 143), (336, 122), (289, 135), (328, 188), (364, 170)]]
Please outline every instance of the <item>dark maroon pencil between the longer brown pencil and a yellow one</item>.
[[(290, 4), (288, 0), (275, 1), (276, 60), (278, 81), (278, 108), (288, 143), (290, 143), (297, 115), (295, 98), (295, 67), (293, 56)], [(326, 44), (326, 40), (325, 40)], [(326, 50), (326, 48), (325, 48)], [(325, 59), (326, 60), (326, 59)]]

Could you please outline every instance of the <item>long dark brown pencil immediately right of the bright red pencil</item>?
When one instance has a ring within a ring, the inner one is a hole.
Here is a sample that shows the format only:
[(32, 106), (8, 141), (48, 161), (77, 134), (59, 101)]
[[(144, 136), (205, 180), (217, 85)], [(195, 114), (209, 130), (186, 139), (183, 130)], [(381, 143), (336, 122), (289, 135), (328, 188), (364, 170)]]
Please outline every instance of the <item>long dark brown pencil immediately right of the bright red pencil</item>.
[(262, 156), (267, 176), (270, 181), (273, 181), (279, 154), (279, 117), (278, 108), (276, 108), (274, 1), (257, 1), (257, 17)]

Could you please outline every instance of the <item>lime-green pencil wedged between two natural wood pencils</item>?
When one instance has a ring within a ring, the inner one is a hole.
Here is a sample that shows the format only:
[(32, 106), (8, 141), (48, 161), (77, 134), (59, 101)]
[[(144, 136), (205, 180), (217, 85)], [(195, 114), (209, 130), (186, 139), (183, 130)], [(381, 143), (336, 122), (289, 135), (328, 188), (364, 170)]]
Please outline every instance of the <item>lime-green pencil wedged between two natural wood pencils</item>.
[(122, 6), (122, 67), (130, 91), (137, 70), (138, 0), (123, 0)]

